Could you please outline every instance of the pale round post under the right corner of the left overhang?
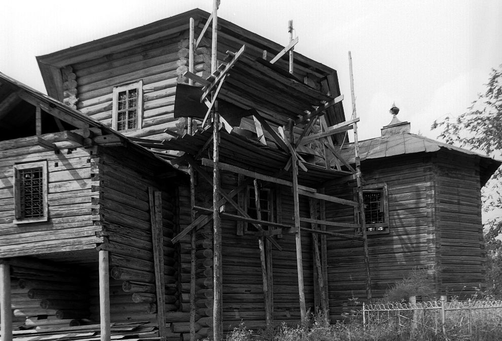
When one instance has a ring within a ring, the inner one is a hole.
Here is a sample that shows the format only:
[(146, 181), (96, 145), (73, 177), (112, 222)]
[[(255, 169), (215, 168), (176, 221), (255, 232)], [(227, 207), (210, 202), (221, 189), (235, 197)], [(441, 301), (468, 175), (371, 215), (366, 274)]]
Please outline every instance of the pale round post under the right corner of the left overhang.
[(110, 341), (110, 273), (107, 250), (99, 250), (99, 318), (101, 341)]

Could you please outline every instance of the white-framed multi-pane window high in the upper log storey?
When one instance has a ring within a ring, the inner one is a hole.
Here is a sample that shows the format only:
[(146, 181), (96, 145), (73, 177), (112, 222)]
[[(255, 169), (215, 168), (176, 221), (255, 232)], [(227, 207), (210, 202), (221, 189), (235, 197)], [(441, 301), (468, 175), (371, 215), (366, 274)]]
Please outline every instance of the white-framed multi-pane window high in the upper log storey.
[(143, 116), (143, 82), (113, 88), (112, 128), (140, 129)]

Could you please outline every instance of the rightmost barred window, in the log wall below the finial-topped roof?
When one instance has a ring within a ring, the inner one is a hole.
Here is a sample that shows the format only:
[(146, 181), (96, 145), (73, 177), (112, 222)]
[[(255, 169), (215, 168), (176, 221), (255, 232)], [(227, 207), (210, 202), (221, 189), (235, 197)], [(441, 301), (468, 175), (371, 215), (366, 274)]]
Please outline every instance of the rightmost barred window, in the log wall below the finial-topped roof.
[(363, 186), (364, 215), (366, 231), (372, 233), (389, 232), (389, 212), (386, 184)]

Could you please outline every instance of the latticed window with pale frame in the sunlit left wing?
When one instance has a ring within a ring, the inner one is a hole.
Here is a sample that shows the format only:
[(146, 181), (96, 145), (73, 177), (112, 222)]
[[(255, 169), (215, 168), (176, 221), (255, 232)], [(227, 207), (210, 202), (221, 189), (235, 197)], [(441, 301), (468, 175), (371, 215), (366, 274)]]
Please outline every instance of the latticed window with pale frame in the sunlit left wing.
[(47, 220), (47, 161), (14, 165), (15, 223)]

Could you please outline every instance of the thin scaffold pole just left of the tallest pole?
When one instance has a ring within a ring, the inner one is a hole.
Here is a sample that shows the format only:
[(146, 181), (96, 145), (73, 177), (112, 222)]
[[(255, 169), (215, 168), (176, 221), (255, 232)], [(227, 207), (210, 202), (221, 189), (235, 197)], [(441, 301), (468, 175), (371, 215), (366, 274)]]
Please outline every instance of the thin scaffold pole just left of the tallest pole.
[[(189, 42), (189, 60), (188, 60), (188, 71), (194, 71), (194, 58), (195, 58), (195, 21), (194, 18), (190, 18), (190, 42)], [(193, 85), (194, 81), (189, 79), (188, 84)], [(188, 133), (193, 135), (194, 133), (194, 120), (193, 118), (188, 118)], [(190, 208), (191, 208), (191, 218), (192, 222), (195, 220), (195, 170), (192, 165), (189, 166), (190, 171)], [(195, 306), (195, 283), (196, 283), (196, 256), (195, 256), (196, 246), (195, 246), (195, 229), (190, 231), (190, 341), (195, 341), (196, 330), (195, 330), (195, 317), (196, 317), (196, 306)]]

